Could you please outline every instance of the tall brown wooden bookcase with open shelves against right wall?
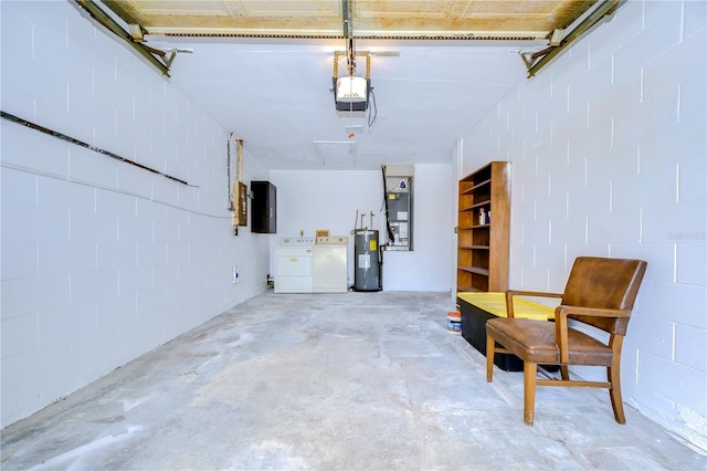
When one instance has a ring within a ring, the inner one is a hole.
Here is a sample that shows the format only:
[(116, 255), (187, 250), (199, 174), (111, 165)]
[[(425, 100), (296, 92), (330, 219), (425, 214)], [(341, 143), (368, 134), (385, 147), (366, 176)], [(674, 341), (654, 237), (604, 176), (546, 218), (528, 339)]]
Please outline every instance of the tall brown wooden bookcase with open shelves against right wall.
[[(479, 212), (490, 214), (479, 221)], [(460, 180), (456, 291), (508, 290), (510, 163), (492, 161)]]

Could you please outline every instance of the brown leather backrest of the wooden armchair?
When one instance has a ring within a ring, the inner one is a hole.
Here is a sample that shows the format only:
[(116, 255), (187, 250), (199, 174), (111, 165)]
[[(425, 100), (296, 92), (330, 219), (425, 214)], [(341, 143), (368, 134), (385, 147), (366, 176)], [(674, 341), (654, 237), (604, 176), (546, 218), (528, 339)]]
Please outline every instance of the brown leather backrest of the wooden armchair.
[[(643, 260), (579, 257), (562, 293), (562, 304), (611, 310), (633, 308), (647, 263)], [(629, 318), (577, 316), (612, 334), (626, 335)]]

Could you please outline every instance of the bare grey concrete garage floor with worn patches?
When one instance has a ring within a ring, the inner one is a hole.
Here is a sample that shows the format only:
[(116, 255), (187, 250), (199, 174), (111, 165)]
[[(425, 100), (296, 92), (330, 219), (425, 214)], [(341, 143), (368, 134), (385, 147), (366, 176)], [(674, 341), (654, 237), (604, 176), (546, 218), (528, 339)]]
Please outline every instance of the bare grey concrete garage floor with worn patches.
[(539, 388), (446, 331), (446, 293), (264, 293), (2, 431), (3, 470), (705, 470), (597, 389)]

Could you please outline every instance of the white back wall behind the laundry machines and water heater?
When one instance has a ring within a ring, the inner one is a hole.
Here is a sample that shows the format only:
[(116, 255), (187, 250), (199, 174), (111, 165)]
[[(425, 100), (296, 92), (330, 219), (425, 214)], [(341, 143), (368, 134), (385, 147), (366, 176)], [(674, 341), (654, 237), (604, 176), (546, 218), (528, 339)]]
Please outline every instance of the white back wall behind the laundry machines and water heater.
[[(450, 201), (455, 186), (450, 185), (451, 150), (443, 156), (449, 164), (414, 166), (413, 251), (383, 254), (383, 291), (437, 291), (452, 289), (453, 220)], [(348, 281), (354, 284), (355, 228), (379, 231), (384, 240), (383, 182), (380, 170), (272, 170), (277, 187), (277, 234), (271, 237), (271, 251), (282, 238), (314, 237), (317, 229), (331, 236), (348, 236)], [(370, 212), (373, 212), (372, 226)], [(359, 218), (357, 220), (357, 212)], [(360, 214), (365, 214), (361, 226)], [(272, 259), (271, 259), (272, 264)], [(271, 266), (272, 269), (272, 266)]]

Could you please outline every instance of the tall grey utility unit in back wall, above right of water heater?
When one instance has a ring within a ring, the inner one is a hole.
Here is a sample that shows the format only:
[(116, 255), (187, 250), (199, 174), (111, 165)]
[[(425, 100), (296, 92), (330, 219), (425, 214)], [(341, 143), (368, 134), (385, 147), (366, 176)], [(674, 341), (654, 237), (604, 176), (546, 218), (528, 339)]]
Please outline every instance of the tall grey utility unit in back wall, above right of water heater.
[(388, 237), (386, 250), (412, 250), (413, 174), (412, 164), (383, 166)]

